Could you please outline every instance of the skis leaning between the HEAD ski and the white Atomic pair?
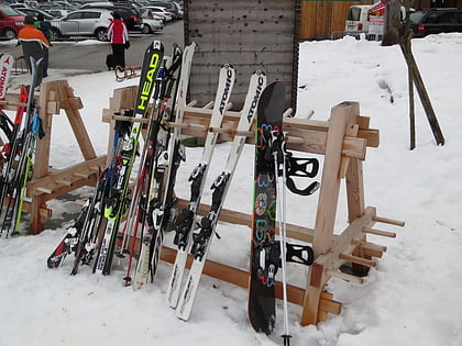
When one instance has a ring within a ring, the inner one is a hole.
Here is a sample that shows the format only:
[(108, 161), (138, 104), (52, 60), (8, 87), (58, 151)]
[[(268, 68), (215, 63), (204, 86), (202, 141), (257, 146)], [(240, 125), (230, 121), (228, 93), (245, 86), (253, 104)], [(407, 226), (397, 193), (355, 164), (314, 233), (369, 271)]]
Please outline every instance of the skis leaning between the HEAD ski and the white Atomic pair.
[[(164, 232), (169, 221), (169, 209), (174, 200), (173, 187), (179, 161), (184, 160), (182, 147), (178, 146), (180, 133), (167, 127), (167, 123), (174, 119), (183, 119), (186, 104), (186, 91), (189, 81), (190, 65), (196, 45), (193, 43), (184, 52), (176, 47), (177, 54), (166, 65), (167, 75), (163, 86), (164, 97), (160, 107), (156, 122), (153, 124), (153, 133), (147, 143), (150, 149), (147, 156), (148, 181), (142, 194), (142, 217), (135, 223), (142, 225), (141, 248), (134, 271), (133, 289), (142, 288), (150, 279), (154, 280), (157, 271), (157, 263), (161, 255)], [(179, 76), (179, 79), (178, 79)], [(165, 77), (164, 77), (165, 78)], [(175, 109), (176, 105), (176, 109)], [(175, 145), (176, 144), (176, 145)], [(151, 153), (151, 154), (150, 154)], [(131, 253), (133, 253), (134, 248)], [(130, 277), (131, 261), (124, 278), (125, 284), (132, 281)], [(151, 274), (151, 276), (150, 276)]]

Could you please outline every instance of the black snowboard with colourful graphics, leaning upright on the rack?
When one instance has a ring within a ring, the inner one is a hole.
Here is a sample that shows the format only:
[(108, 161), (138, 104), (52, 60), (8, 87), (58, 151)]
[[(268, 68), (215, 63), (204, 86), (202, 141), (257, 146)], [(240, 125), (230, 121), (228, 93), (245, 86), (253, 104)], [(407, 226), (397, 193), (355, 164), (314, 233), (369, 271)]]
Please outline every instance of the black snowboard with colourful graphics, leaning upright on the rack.
[(251, 234), (249, 319), (256, 332), (270, 334), (275, 325), (275, 275), (280, 247), (276, 231), (276, 177), (271, 150), (272, 133), (282, 132), (285, 88), (279, 81), (263, 91), (255, 134), (254, 209)]

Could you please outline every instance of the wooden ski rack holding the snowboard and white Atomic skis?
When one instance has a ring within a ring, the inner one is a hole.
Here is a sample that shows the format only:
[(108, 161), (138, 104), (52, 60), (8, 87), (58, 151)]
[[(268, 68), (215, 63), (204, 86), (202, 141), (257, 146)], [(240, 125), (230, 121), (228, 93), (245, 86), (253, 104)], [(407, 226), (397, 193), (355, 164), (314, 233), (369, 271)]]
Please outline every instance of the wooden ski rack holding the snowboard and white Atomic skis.
[[(135, 90), (117, 89), (110, 100), (110, 109), (103, 110), (105, 122), (114, 121), (114, 112), (129, 109), (131, 100), (125, 103), (123, 97)], [(185, 109), (184, 122), (169, 123), (170, 126), (183, 127), (184, 135), (204, 138), (208, 131), (220, 133), (220, 141), (232, 141), (240, 113), (227, 111), (220, 129), (209, 129), (212, 102), (204, 108), (189, 103)], [(287, 110), (286, 113), (290, 113)], [(112, 126), (111, 126), (112, 127)], [(404, 222), (381, 217), (374, 207), (365, 207), (363, 183), (363, 160), (366, 147), (378, 147), (378, 130), (370, 129), (370, 119), (360, 115), (358, 102), (342, 102), (331, 109), (329, 121), (301, 120), (285, 118), (283, 129), (287, 132), (287, 148), (292, 150), (323, 155), (321, 187), (319, 190), (315, 228), (296, 224), (287, 224), (287, 236), (309, 243), (315, 252), (315, 263), (307, 275), (307, 283), (302, 287), (288, 284), (288, 301), (300, 305), (301, 325), (317, 324), (324, 321), (328, 313), (340, 314), (342, 303), (333, 300), (327, 291), (331, 278), (343, 279), (353, 283), (362, 283), (363, 276), (370, 267), (377, 265), (373, 258), (381, 258), (386, 246), (367, 241), (367, 234), (396, 237), (396, 233), (373, 228), (375, 223), (404, 226)], [(239, 133), (243, 135), (243, 133)], [(254, 144), (254, 132), (245, 133), (246, 143)], [(346, 185), (348, 226), (334, 234), (341, 182)], [(180, 199), (177, 208), (182, 210), (188, 204)], [(198, 215), (206, 215), (210, 205), (201, 203)], [(220, 221), (251, 225), (252, 215), (223, 209)], [(249, 241), (250, 248), (250, 241)], [(175, 263), (176, 249), (163, 246), (161, 259)], [(193, 256), (189, 256), (187, 268), (190, 268)], [(352, 264), (352, 274), (340, 271), (344, 264)], [(208, 259), (204, 274), (242, 288), (249, 286), (249, 271), (230, 267)], [(282, 298), (282, 283), (276, 282), (276, 297)]]

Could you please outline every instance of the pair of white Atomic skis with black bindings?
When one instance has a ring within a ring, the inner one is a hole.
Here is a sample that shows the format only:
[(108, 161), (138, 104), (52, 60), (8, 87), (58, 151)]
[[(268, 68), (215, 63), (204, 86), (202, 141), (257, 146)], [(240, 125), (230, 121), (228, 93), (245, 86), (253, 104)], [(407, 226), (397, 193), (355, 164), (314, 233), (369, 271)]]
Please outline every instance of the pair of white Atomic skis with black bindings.
[[(167, 288), (167, 299), (169, 305), (172, 308), (176, 308), (176, 314), (182, 320), (189, 319), (195, 295), (199, 287), (199, 280), (204, 270), (204, 265), (217, 227), (218, 217), (246, 139), (246, 136), (243, 135), (243, 133), (250, 131), (252, 126), (253, 119), (256, 114), (256, 105), (260, 94), (266, 85), (266, 76), (262, 71), (255, 71), (252, 75), (248, 96), (245, 98), (238, 124), (237, 135), (231, 145), (224, 169), (216, 178), (211, 186), (213, 193), (210, 211), (207, 216), (201, 219), (199, 227), (195, 230), (197, 209), (200, 203), (200, 197), (206, 182), (208, 167), (210, 165), (212, 150), (218, 136), (218, 133), (213, 132), (213, 129), (218, 129), (221, 125), (234, 83), (234, 77), (235, 71), (231, 66), (224, 65), (221, 68), (217, 98), (210, 119), (210, 127), (212, 131), (210, 131), (207, 135), (201, 160), (189, 177), (189, 180), (191, 181), (190, 202), (188, 208), (183, 211), (183, 223), (178, 224), (176, 227), (174, 242), (178, 247), (178, 252)], [(182, 287), (188, 253), (194, 255), (195, 259), (185, 280), (185, 284)]]

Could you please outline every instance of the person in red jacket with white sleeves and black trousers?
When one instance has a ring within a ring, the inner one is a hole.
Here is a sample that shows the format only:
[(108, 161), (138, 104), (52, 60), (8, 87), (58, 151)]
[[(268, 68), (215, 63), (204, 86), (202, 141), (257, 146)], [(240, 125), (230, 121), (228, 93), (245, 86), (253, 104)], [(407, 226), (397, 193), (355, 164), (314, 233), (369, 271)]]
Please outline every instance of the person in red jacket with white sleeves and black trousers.
[(109, 24), (106, 35), (111, 42), (114, 65), (125, 67), (125, 49), (130, 47), (129, 30), (119, 12), (113, 12), (112, 16), (113, 20)]

